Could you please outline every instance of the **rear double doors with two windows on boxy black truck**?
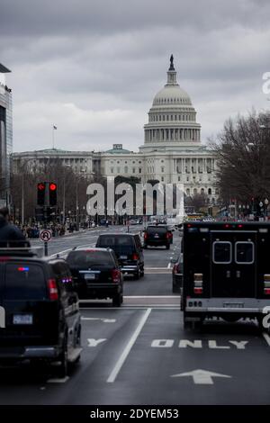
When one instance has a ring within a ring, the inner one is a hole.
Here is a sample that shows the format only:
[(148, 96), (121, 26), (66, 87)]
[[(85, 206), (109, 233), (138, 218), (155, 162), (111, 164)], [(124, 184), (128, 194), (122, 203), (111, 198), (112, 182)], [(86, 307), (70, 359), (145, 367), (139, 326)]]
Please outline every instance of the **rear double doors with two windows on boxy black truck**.
[(211, 296), (255, 298), (257, 232), (211, 231)]

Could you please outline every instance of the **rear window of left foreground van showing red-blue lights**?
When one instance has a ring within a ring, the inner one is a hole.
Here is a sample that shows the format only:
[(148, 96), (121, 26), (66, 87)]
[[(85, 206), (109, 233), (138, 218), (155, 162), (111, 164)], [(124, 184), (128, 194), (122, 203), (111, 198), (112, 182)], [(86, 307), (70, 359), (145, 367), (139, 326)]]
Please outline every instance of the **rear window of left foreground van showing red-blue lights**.
[(47, 287), (41, 266), (14, 263), (5, 266), (5, 300), (41, 300), (47, 297)]

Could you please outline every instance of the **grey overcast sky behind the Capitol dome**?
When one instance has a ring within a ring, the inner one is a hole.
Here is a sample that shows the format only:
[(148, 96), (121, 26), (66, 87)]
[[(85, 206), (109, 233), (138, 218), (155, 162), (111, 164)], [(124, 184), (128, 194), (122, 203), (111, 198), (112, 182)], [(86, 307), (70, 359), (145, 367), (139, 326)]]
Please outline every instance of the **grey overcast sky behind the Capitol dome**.
[(136, 151), (174, 53), (202, 141), (269, 107), (268, 0), (1, 0), (0, 63), (12, 74), (14, 151)]

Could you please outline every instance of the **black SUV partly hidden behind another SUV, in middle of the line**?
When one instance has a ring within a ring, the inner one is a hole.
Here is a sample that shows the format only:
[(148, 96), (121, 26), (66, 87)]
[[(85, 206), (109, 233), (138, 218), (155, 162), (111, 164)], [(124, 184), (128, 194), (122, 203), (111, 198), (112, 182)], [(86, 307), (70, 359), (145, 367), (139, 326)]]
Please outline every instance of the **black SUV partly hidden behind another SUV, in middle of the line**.
[(112, 248), (123, 274), (134, 275), (135, 279), (144, 275), (143, 250), (138, 234), (105, 233), (98, 237), (96, 247)]

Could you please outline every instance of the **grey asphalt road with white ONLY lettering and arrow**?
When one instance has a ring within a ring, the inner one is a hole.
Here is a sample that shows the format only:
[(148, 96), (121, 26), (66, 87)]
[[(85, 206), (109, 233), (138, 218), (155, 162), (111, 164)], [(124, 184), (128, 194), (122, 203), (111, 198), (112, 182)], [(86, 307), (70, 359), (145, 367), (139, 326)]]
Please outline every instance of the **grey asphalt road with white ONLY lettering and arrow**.
[[(53, 240), (49, 253), (94, 246), (103, 230)], [(67, 379), (28, 364), (1, 368), (0, 404), (270, 404), (270, 338), (256, 323), (184, 330), (168, 268), (179, 243), (175, 233), (170, 251), (145, 251), (146, 275), (126, 279), (121, 309), (82, 304), (84, 349)]]

